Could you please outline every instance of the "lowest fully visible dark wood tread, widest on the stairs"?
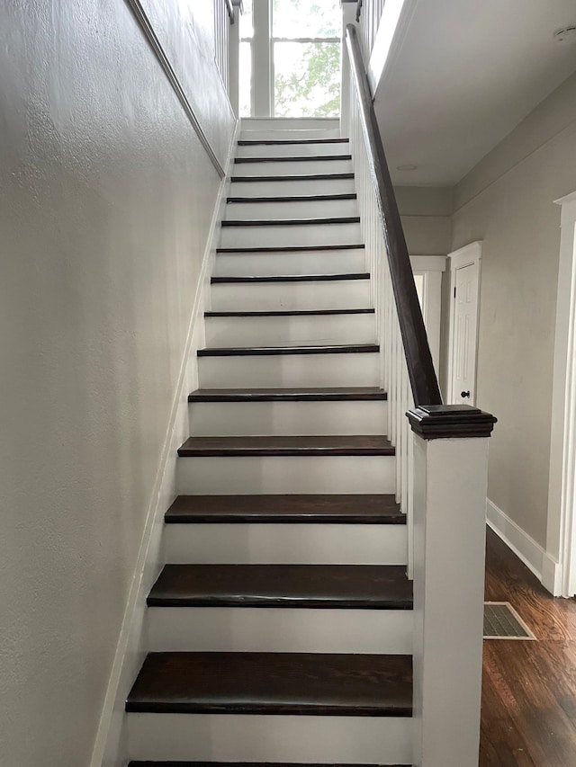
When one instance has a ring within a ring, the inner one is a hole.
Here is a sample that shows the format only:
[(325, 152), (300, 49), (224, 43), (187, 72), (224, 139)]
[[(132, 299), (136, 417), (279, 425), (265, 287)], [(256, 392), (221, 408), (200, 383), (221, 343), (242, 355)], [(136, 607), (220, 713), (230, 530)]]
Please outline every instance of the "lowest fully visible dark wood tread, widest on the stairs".
[(410, 717), (410, 656), (150, 653), (129, 712)]

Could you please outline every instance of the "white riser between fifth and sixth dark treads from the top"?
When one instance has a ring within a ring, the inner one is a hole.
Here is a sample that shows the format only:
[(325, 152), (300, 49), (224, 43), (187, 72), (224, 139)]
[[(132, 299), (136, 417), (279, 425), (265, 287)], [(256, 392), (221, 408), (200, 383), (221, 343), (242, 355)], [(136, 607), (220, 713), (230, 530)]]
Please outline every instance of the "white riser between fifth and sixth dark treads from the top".
[(360, 224), (316, 224), (280, 227), (222, 227), (220, 247), (284, 247), (287, 245), (357, 245)]

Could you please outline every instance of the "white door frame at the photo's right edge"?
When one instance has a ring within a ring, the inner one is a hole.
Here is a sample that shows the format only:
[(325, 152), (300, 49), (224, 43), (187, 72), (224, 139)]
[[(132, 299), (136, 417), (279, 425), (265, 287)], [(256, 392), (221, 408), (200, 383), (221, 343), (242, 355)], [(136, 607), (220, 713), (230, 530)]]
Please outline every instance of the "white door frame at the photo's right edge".
[(569, 597), (576, 593), (576, 192), (555, 202), (562, 217), (542, 583)]

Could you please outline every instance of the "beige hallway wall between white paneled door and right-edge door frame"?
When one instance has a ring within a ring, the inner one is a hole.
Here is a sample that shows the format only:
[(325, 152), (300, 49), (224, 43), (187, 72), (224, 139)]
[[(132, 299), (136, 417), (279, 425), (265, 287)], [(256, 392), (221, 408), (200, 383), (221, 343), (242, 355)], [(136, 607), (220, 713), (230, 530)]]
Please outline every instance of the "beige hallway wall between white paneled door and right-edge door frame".
[(542, 548), (560, 245), (554, 200), (575, 186), (576, 75), (455, 188), (453, 249), (482, 240), (477, 404), (499, 418), (488, 495)]

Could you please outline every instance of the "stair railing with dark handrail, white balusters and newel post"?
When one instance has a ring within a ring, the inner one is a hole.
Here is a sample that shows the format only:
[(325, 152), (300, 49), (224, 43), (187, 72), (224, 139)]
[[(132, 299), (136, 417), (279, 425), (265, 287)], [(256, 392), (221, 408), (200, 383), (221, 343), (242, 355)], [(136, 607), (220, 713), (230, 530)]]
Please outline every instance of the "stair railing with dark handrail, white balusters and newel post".
[[(345, 7), (345, 6), (343, 6)], [(345, 8), (345, 19), (349, 12)], [(442, 404), (356, 26), (346, 26), (351, 153), (372, 275), (397, 496), (414, 577), (418, 767), (478, 764), (488, 437), (496, 419)], [(407, 417), (408, 416), (408, 417)]]

